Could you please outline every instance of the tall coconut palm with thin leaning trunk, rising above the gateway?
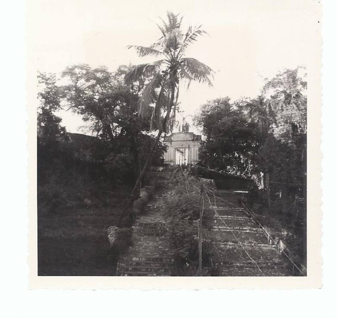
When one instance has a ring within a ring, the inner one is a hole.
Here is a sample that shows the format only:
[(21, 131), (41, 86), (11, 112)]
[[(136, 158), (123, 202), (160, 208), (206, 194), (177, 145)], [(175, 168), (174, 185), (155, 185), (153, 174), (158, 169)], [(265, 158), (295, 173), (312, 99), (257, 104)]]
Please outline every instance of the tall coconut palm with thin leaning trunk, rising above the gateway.
[(207, 83), (212, 86), (210, 78), (213, 77), (213, 70), (196, 59), (185, 57), (185, 51), (189, 45), (206, 32), (201, 29), (200, 25), (190, 26), (183, 34), (180, 29), (182, 17), (180, 18), (179, 14), (174, 15), (172, 12), (167, 12), (167, 19), (167, 23), (161, 19), (162, 25), (157, 24), (161, 37), (152, 45), (149, 47), (128, 46), (129, 49), (136, 49), (140, 57), (149, 55), (162, 57), (152, 63), (134, 66), (125, 76), (126, 84), (144, 84), (138, 101), (139, 113), (145, 116), (152, 111), (150, 129), (158, 129), (154, 145), (133, 188), (129, 204), (132, 202), (135, 190), (149, 165), (161, 134), (168, 130), (172, 131), (179, 97), (179, 81), (184, 80), (187, 88), (191, 81)]

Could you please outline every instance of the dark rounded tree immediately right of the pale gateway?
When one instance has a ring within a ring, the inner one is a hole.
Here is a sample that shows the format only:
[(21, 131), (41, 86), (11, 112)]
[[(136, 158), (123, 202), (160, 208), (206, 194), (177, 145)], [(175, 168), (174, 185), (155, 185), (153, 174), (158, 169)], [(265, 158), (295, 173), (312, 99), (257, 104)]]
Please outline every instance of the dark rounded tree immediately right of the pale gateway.
[(257, 124), (247, 121), (229, 98), (215, 99), (203, 105), (195, 123), (202, 127), (206, 136), (200, 148), (200, 160), (204, 165), (227, 173), (252, 175), (261, 134)]

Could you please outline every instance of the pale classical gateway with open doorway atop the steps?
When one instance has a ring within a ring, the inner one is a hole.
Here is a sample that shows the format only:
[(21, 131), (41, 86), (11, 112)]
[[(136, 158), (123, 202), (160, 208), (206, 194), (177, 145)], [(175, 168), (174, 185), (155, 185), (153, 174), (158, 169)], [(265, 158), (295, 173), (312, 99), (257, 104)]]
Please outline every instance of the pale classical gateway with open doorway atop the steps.
[(175, 165), (196, 164), (198, 162), (201, 135), (192, 132), (172, 133), (164, 137), (164, 144), (168, 146), (164, 154), (164, 163)]

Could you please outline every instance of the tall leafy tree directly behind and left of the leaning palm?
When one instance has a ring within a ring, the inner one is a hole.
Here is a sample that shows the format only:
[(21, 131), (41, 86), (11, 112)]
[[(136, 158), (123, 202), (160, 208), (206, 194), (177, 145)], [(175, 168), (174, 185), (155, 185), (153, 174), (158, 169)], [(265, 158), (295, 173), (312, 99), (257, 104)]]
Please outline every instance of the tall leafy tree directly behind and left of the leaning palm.
[[(67, 67), (62, 76), (68, 81), (62, 91), (65, 106), (89, 121), (93, 133), (110, 146), (108, 167), (114, 168), (118, 162), (121, 169), (117, 170), (131, 170), (137, 178), (146, 161), (145, 150), (154, 138), (145, 133), (150, 115), (141, 118), (137, 112), (139, 88), (130, 89), (123, 82), (123, 72), (128, 68), (120, 66), (116, 73), (111, 73), (106, 67), (91, 68), (85, 64)], [(155, 150), (160, 157), (163, 145), (157, 144)]]

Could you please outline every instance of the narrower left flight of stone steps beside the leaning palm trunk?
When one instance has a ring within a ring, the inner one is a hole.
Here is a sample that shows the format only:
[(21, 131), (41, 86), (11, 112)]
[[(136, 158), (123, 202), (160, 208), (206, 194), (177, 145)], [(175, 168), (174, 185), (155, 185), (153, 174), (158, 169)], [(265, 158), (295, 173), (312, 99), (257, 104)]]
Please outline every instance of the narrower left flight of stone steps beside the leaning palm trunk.
[(174, 258), (166, 239), (164, 216), (155, 198), (134, 224), (127, 254), (117, 264), (118, 276), (172, 276)]

